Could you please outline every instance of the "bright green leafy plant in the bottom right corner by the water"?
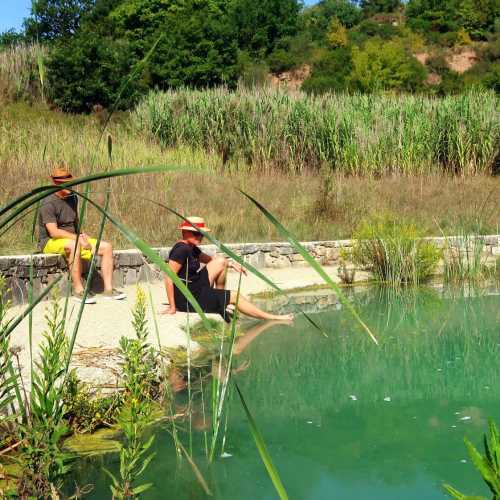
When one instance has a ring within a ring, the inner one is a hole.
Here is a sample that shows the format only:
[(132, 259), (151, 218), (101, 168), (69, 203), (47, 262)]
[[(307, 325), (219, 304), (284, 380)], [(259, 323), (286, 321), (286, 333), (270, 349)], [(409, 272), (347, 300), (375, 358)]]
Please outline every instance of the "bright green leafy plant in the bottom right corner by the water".
[[(490, 421), (489, 436), (484, 436), (484, 455), (481, 455), (467, 438), (464, 438), (464, 441), (472, 463), (493, 495), (492, 500), (500, 499), (500, 434), (495, 422)], [(444, 488), (457, 500), (485, 500), (480, 496), (464, 495), (449, 484)]]

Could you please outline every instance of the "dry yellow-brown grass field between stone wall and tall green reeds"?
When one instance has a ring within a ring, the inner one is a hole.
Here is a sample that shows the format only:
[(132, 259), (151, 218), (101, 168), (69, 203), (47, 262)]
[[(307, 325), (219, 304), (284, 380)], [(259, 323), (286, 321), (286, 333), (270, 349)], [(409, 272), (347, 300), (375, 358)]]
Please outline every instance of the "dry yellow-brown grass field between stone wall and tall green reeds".
[[(0, 109), (0, 204), (47, 182), (50, 166), (64, 160), (75, 174), (108, 168), (106, 145), (96, 151), (101, 127), (97, 116), (63, 115), (24, 105)], [(500, 178), (487, 175), (388, 176), (381, 178), (284, 174), (226, 164), (217, 155), (189, 149), (163, 149), (128, 125), (127, 115), (113, 120), (115, 167), (175, 164), (185, 173), (144, 175), (112, 181), (111, 212), (154, 245), (177, 237), (175, 218), (146, 199), (189, 215), (207, 218), (225, 242), (279, 239), (273, 228), (237, 189), (257, 197), (303, 240), (350, 237), (361, 219), (392, 212), (415, 221), (426, 234), (447, 233), (464, 221), (475, 231), (500, 232)], [(189, 172), (187, 170), (190, 170)], [(325, 186), (327, 186), (325, 188)], [(102, 199), (103, 184), (93, 196)], [(98, 215), (89, 211), (87, 231), (96, 231)], [(31, 217), (0, 240), (1, 253), (31, 251)], [(130, 247), (107, 227), (116, 247)]]

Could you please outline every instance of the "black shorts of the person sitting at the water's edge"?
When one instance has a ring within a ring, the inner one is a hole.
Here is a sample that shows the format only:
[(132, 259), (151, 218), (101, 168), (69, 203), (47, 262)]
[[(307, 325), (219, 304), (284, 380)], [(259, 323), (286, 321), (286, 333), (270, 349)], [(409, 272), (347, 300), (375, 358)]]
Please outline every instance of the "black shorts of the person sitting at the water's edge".
[[(200, 304), (201, 310), (207, 314), (220, 314), (225, 321), (230, 321), (226, 307), (230, 304), (231, 292), (220, 290), (210, 286), (207, 268), (204, 267), (199, 273), (198, 279), (188, 283), (190, 292)], [(193, 306), (182, 295), (182, 292), (174, 286), (175, 307), (178, 311), (194, 312)]]

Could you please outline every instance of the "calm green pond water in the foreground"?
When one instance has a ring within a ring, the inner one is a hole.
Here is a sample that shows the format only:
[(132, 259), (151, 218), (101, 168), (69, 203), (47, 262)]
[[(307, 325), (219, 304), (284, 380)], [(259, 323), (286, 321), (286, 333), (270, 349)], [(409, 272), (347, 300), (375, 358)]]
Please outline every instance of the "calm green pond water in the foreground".
[[(351, 299), (379, 347), (331, 296), (310, 294), (295, 300), (320, 310), (314, 318), (328, 338), (298, 319), (250, 327), (239, 339), (236, 377), (289, 497), (431, 500), (447, 498), (443, 483), (487, 495), (463, 437), (480, 446), (488, 418), (500, 422), (498, 289), (366, 289)], [(193, 458), (214, 498), (276, 498), (235, 394), (224, 458), (207, 465), (199, 385), (194, 392)], [(176, 409), (186, 401), (178, 393)], [(178, 425), (188, 447), (189, 422)], [(157, 456), (141, 478), (154, 487), (144, 498), (206, 498), (189, 464), (176, 459), (169, 429), (155, 434)], [(102, 468), (117, 473), (118, 465), (116, 454), (78, 460), (71, 481), (94, 485), (86, 498), (110, 498)]]

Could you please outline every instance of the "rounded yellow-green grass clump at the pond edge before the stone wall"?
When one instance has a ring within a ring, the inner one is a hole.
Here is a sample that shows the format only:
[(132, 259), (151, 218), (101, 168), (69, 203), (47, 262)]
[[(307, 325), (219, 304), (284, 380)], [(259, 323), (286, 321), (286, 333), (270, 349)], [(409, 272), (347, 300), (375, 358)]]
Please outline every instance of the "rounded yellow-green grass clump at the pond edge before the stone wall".
[(352, 261), (380, 282), (419, 285), (431, 277), (441, 251), (416, 225), (393, 216), (363, 221), (353, 238)]

